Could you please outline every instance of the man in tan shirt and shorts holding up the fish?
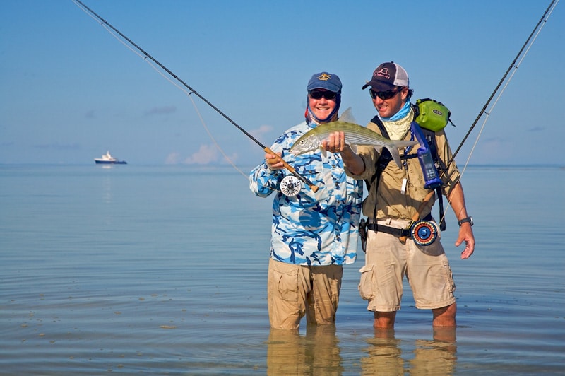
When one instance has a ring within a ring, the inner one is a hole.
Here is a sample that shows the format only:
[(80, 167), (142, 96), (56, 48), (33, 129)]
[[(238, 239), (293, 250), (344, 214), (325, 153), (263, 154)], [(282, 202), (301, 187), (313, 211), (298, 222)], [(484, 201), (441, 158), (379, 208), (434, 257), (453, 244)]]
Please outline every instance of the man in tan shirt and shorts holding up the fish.
[[(367, 127), (382, 134), (377, 125), (381, 122), (390, 139), (415, 139), (411, 129), (415, 119), (414, 108), (410, 104), (412, 89), (405, 69), (393, 62), (383, 63), (375, 69), (371, 81), (363, 89), (368, 86), (371, 86), (369, 91), (379, 116)], [(436, 131), (435, 140), (439, 159), (444, 164), (448, 163), (452, 154), (443, 130)], [(374, 312), (374, 327), (394, 327), (405, 276), (410, 282), (416, 307), (432, 310), (433, 326), (455, 327), (455, 283), (439, 240), (439, 230), (436, 228), (438, 236), (431, 245), (421, 245), (410, 236), (410, 226), (415, 218), (437, 227), (431, 214), (434, 189), (424, 188), (424, 175), (418, 158), (404, 159), (402, 168), (398, 168), (396, 163), (388, 163), (376, 175), (376, 161), (380, 153), (375, 148), (359, 146), (355, 154), (345, 144), (343, 132), (331, 134), (323, 147), (342, 154), (347, 175), (369, 181), (378, 176), (363, 201), (363, 214), (368, 217), (369, 231), (365, 266), (360, 270), (359, 283), (359, 293), (368, 301), (367, 309)], [(415, 148), (404, 153), (414, 154)], [(442, 193), (448, 198), (460, 225), (456, 246), (465, 242), (461, 258), (467, 259), (475, 249), (475, 237), (455, 163), (448, 166), (441, 180)]]

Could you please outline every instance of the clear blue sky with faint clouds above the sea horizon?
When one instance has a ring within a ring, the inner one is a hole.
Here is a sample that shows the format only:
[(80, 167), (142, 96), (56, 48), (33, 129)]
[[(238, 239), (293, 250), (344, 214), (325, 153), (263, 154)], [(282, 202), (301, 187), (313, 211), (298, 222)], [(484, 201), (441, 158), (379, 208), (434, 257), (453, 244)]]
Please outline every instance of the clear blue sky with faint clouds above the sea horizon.
[[(383, 61), (414, 98), (452, 112), (455, 149), (550, 1), (84, 0), (266, 146), (303, 120), (306, 84), (343, 81), (341, 110), (375, 110), (363, 83)], [(400, 5), (401, 4), (401, 5)], [(565, 10), (557, 4), (480, 134), (470, 163), (565, 165)], [(261, 147), (157, 74), (71, 0), (4, 0), (0, 163), (237, 165)], [(465, 163), (484, 117), (460, 151)]]

